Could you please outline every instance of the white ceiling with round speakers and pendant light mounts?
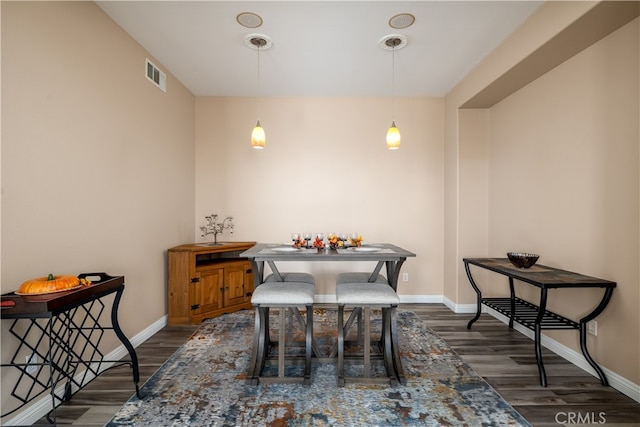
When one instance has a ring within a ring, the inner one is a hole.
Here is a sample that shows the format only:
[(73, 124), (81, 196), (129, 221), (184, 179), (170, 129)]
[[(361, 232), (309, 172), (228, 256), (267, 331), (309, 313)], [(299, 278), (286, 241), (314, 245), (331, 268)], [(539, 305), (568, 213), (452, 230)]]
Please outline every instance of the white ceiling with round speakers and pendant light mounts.
[[(444, 96), (540, 1), (98, 1), (197, 96)], [(241, 12), (264, 21), (242, 27)], [(411, 13), (406, 29), (389, 26)], [(245, 45), (248, 34), (273, 45)], [(379, 47), (390, 34), (407, 45)], [(260, 87), (258, 88), (258, 54)]]

